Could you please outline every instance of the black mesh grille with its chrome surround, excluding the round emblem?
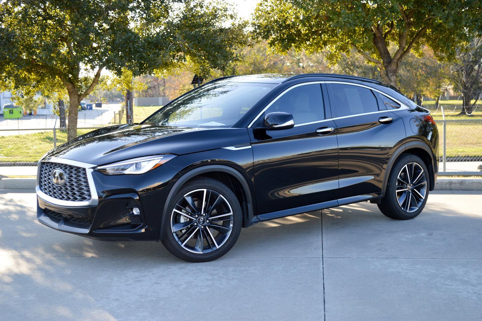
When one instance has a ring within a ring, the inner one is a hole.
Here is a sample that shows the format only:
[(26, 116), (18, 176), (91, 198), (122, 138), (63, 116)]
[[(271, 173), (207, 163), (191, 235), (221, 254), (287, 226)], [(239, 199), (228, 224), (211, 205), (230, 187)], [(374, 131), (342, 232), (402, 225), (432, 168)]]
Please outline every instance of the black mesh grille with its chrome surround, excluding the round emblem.
[[(94, 167), (96, 165), (59, 157), (42, 159), (37, 169), (37, 195), (54, 205), (97, 205), (97, 192), (92, 178)], [(54, 185), (51, 180), (51, 173), (55, 168), (60, 168), (66, 173), (66, 182), (61, 186)], [(73, 183), (70, 182), (69, 176), (73, 178)], [(76, 182), (80, 186), (77, 186)]]

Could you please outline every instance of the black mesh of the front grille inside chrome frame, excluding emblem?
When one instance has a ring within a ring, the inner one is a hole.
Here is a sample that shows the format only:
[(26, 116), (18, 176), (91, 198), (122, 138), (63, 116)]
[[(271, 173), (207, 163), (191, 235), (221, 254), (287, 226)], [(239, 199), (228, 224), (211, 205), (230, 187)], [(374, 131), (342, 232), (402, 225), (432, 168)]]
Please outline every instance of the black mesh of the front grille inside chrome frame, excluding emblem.
[[(62, 169), (65, 173), (65, 182), (60, 186), (52, 181), (52, 171), (56, 168)], [(87, 172), (83, 167), (42, 162), (39, 187), (43, 193), (64, 201), (81, 202), (91, 199)]]

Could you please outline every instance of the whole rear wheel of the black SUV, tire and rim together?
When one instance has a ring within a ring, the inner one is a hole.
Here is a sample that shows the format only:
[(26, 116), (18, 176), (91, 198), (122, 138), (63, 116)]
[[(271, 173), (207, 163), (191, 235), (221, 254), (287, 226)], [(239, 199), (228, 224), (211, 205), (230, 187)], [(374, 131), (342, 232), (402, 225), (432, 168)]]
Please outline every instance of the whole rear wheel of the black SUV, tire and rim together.
[(393, 219), (413, 219), (427, 202), (428, 180), (424, 162), (413, 154), (403, 155), (392, 167), (385, 197), (378, 208)]

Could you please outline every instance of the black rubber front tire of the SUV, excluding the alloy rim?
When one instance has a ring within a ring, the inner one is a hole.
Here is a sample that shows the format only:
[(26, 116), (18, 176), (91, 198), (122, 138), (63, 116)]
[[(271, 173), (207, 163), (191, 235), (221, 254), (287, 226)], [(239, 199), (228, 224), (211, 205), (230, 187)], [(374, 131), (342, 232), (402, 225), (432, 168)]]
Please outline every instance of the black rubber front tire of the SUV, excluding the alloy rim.
[[(179, 245), (179, 243), (177, 243), (175, 240), (171, 231), (172, 211), (175, 204), (182, 196), (197, 189), (210, 189), (216, 193), (219, 193), (220, 195), (223, 195), (228, 201), (233, 212), (233, 227), (226, 242), (219, 249), (203, 254), (193, 253), (182, 248), (181, 245)], [(242, 214), (238, 199), (226, 185), (210, 178), (200, 178), (188, 181), (170, 200), (166, 215), (168, 215), (168, 217), (167, 224), (165, 224), (165, 237), (162, 243), (167, 250), (169, 250), (175, 256), (191, 262), (206, 262), (223, 256), (233, 247), (241, 232)]]

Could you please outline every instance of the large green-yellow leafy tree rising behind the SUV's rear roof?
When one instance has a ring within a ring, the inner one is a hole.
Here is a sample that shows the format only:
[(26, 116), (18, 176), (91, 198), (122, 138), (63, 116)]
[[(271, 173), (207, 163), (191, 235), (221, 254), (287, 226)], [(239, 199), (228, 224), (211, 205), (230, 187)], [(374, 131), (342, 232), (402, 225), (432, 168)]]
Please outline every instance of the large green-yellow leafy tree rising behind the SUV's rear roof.
[(482, 33), (481, 16), (478, 0), (261, 0), (253, 27), (278, 51), (327, 49), (336, 61), (355, 49), (397, 86), (410, 52), (427, 44), (439, 58), (452, 58), (456, 44)]

